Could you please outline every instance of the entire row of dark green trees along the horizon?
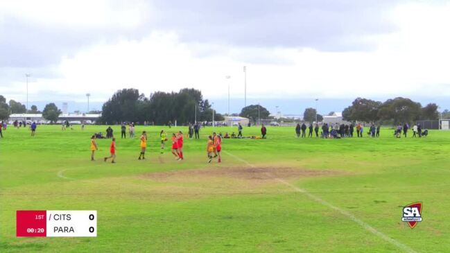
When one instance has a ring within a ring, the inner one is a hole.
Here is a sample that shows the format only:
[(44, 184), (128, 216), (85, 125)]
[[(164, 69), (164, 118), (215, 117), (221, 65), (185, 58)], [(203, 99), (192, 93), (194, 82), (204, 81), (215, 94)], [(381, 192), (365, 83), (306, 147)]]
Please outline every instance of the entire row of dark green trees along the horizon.
[[(35, 105), (31, 110), (26, 110), (26, 106), (10, 100), (6, 103), (6, 98), (0, 95), (0, 120), (6, 120), (10, 114), (20, 113), (41, 113)], [(316, 110), (306, 108), (303, 120), (315, 121)], [(58, 120), (61, 111), (55, 103), (49, 103), (42, 111), (44, 119), (52, 121)], [(169, 122), (179, 124), (193, 123), (197, 121), (212, 121), (213, 109), (207, 99), (204, 99), (201, 91), (197, 89), (181, 89), (178, 92), (157, 91), (146, 97), (139, 94), (137, 89), (121, 89), (116, 91), (112, 97), (103, 104), (101, 118), (98, 123), (154, 123), (155, 125), (165, 125)], [(331, 114), (331, 113), (330, 113)], [(251, 121), (258, 119), (269, 119), (270, 112), (262, 105), (248, 105), (243, 107), (240, 114), (232, 116), (243, 116)], [(373, 101), (367, 98), (356, 98), (352, 105), (343, 111), (343, 119), (346, 121), (379, 122), (386, 123), (413, 123), (417, 120), (437, 120), (439, 119), (438, 105), (429, 103), (422, 107), (420, 103), (410, 100), (410, 98), (392, 98), (385, 102)], [(216, 121), (222, 121), (223, 115), (214, 111)], [(449, 119), (450, 111), (444, 110), (442, 118)], [(318, 122), (323, 117), (317, 114)]]

